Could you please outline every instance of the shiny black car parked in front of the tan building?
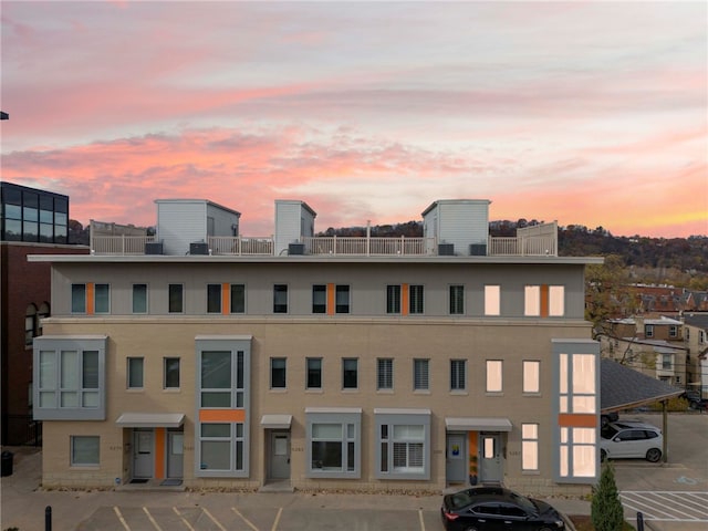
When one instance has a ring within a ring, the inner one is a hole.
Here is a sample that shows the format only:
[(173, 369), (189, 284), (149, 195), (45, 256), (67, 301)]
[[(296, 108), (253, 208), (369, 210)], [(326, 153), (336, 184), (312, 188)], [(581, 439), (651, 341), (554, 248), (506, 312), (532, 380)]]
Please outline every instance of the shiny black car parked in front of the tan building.
[(502, 487), (472, 487), (442, 497), (447, 531), (564, 530), (565, 521), (551, 506)]

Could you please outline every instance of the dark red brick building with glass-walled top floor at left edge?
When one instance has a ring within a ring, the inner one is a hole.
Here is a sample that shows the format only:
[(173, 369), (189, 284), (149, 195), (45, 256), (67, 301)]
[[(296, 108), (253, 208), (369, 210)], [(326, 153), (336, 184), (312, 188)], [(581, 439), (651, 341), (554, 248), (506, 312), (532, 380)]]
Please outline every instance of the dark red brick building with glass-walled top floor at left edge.
[(51, 314), (49, 263), (28, 254), (87, 254), (67, 242), (69, 197), (0, 183), (2, 445), (39, 444), (32, 420), (32, 341)]

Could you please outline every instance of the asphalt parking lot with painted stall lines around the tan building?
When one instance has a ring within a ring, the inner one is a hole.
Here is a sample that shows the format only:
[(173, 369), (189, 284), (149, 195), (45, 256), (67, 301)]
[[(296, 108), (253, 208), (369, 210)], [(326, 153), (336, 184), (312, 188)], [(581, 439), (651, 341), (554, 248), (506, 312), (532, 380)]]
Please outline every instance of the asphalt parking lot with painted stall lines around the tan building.
[[(632, 418), (662, 426), (660, 415)], [(646, 529), (708, 529), (708, 415), (669, 416), (667, 464), (613, 461), (625, 508)], [(2, 478), (1, 529), (82, 531), (440, 531), (439, 494), (392, 496), (325, 492), (43, 491), (40, 455), (19, 449), (15, 470)], [(587, 500), (552, 499), (568, 514), (590, 514)]]

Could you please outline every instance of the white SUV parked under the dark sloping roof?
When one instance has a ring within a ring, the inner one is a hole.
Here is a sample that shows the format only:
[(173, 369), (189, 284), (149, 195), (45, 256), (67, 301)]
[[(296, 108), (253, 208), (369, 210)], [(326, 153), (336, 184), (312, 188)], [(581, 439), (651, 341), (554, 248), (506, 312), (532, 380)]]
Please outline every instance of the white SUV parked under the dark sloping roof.
[(662, 430), (637, 420), (610, 423), (600, 431), (600, 458), (622, 459), (638, 457), (650, 462), (662, 459), (664, 437)]

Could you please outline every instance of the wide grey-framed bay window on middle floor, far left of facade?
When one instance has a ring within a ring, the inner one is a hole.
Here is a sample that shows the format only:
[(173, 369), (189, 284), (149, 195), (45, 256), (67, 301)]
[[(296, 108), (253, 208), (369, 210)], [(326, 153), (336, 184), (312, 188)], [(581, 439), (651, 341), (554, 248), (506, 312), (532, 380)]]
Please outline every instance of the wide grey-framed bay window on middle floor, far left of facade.
[(34, 339), (34, 419), (105, 420), (105, 337)]

